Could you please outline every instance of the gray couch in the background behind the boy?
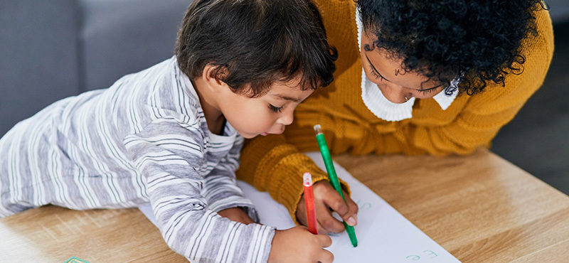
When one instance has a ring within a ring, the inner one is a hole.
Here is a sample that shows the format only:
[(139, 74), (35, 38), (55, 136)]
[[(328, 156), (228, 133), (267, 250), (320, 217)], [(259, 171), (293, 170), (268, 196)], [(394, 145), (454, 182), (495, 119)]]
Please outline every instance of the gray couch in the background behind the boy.
[(191, 0), (0, 0), (0, 136), (170, 58)]

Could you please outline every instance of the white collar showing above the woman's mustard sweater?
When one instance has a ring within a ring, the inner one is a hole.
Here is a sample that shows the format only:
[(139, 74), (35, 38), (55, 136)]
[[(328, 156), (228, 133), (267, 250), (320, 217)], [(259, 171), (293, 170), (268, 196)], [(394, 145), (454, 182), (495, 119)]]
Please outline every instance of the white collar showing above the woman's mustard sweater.
[[(360, 19), (360, 13), (356, 9), (356, 24), (358, 25), (358, 47), (361, 47), (361, 34), (363, 32), (363, 25)], [(454, 79), (451, 85), (458, 85), (459, 80)], [(458, 89), (457, 89), (458, 90)], [(457, 97), (457, 90), (452, 93), (452, 95), (447, 96), (445, 92), (439, 92), (439, 94), (432, 97), (441, 107), (442, 110), (447, 109), (450, 104)], [(363, 104), (373, 112), (378, 118), (385, 119), (388, 122), (398, 122), (403, 119), (410, 119), (413, 117), (413, 104), (415, 103), (415, 97), (410, 98), (404, 103), (393, 103), (387, 100), (378, 86), (368, 79), (366, 72), (361, 70), (361, 99)]]

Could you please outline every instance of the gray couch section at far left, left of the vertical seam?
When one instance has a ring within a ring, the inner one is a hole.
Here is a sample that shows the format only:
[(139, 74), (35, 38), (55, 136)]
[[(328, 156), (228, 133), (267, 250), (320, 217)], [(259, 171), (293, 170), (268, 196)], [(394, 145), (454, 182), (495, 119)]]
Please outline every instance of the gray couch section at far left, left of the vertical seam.
[(78, 21), (73, 0), (1, 1), (0, 136), (79, 92)]

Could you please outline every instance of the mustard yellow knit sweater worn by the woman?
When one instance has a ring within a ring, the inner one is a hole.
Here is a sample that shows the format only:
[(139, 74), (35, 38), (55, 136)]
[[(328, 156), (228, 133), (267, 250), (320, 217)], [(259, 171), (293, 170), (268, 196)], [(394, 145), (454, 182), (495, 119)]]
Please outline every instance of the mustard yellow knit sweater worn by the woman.
[(245, 145), (238, 178), (287, 207), (296, 220), (302, 174), (326, 180), (304, 151), (318, 151), (314, 125), (321, 124), (332, 154), (469, 154), (489, 147), (543, 83), (553, 56), (553, 28), (548, 11), (538, 11), (538, 36), (523, 42), (526, 63), (521, 75), (507, 75), (505, 87), (459, 95), (446, 110), (433, 99), (416, 100), (413, 117), (387, 122), (361, 99), (361, 58), (353, 0), (317, 1), (329, 43), (339, 54), (334, 82), (297, 107), (294, 123), (282, 135), (258, 136)]

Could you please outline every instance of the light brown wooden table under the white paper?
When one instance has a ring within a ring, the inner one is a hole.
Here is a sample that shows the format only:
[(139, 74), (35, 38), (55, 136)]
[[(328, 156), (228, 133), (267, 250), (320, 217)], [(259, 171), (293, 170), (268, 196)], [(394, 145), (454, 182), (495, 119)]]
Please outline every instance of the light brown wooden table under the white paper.
[[(569, 262), (569, 197), (490, 151), (334, 160), (461, 262)], [(46, 206), (0, 219), (0, 262), (70, 257), (187, 262), (137, 209)]]

